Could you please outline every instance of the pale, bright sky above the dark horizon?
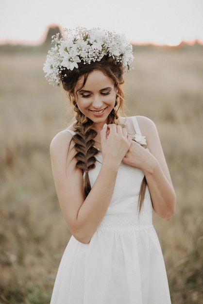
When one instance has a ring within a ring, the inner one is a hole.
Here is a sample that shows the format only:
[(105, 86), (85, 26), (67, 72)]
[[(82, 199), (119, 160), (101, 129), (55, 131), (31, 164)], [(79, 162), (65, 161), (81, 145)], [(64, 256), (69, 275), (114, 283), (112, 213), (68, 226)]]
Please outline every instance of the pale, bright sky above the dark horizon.
[(0, 0), (0, 44), (39, 44), (51, 24), (100, 27), (137, 44), (203, 44), (203, 0)]

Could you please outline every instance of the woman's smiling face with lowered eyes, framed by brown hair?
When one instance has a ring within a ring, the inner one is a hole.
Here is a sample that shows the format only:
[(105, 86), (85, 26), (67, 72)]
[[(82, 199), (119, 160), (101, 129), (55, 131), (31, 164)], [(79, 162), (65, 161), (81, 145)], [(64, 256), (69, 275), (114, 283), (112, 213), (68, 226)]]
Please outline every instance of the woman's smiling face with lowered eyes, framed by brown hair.
[(82, 87), (83, 82), (84, 76), (79, 78), (75, 86), (75, 101), (79, 110), (94, 122), (94, 127), (100, 129), (115, 106), (114, 82), (100, 70), (92, 71)]

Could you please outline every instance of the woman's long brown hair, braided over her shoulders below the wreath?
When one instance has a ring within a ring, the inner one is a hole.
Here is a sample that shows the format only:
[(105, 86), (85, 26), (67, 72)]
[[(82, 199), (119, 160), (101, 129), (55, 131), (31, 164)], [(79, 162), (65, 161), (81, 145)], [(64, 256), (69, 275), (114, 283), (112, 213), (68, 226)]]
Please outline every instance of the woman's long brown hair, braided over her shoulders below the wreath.
[[(78, 64), (78, 68), (74, 68), (72, 71), (64, 69), (61, 73), (61, 80), (63, 87), (69, 94), (69, 100), (74, 107), (76, 112), (74, 124), (75, 135), (73, 135), (72, 140), (75, 143), (76, 154), (75, 158), (77, 160), (76, 167), (80, 168), (85, 173), (84, 177), (84, 197), (86, 198), (91, 190), (90, 180), (89, 180), (89, 170), (95, 168), (96, 158), (95, 155), (98, 150), (94, 147), (94, 138), (97, 132), (92, 129), (93, 121), (87, 117), (79, 110), (76, 101), (74, 100), (74, 89), (77, 84), (78, 79), (84, 76), (84, 81), (82, 87), (85, 85), (88, 75), (93, 70), (100, 70), (107, 77), (113, 80), (115, 88), (117, 90), (117, 97), (115, 101), (115, 107), (111, 111), (108, 117), (108, 123), (118, 124), (118, 112), (121, 110), (123, 113), (124, 104), (124, 94), (121, 89), (121, 84), (124, 83), (123, 80), (123, 68), (121, 63), (116, 63), (112, 57), (104, 56), (101, 61), (92, 62), (90, 65), (84, 65), (83, 62)], [(81, 88), (82, 88), (81, 87)], [(80, 88), (80, 89), (81, 89)], [(76, 92), (77, 93), (77, 92)], [(123, 113), (124, 114), (124, 113)], [(138, 208), (139, 213), (144, 201), (145, 190), (146, 190), (146, 179), (144, 178), (140, 188)]]

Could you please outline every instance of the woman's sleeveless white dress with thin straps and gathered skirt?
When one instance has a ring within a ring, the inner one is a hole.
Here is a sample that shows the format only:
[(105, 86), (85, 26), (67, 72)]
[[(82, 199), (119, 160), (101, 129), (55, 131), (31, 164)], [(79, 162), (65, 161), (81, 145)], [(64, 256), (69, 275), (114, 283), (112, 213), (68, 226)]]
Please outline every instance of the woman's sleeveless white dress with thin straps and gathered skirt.
[[(135, 117), (133, 121), (136, 134), (140, 134)], [(101, 169), (100, 152), (96, 159), (96, 168), (89, 171), (91, 186)], [(148, 188), (138, 217), (143, 177), (142, 170), (120, 165), (110, 205), (90, 243), (82, 244), (73, 236), (68, 242), (51, 304), (171, 303)]]

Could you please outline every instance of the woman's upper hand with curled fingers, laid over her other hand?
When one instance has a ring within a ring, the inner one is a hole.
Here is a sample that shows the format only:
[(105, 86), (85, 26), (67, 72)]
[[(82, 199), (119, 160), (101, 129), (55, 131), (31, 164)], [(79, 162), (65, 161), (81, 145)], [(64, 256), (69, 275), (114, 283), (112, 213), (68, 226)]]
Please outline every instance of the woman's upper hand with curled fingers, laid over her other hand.
[(132, 138), (120, 125), (104, 124), (101, 130), (101, 149), (103, 161), (108, 160), (119, 167), (130, 149)]

